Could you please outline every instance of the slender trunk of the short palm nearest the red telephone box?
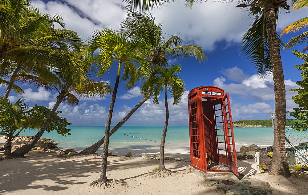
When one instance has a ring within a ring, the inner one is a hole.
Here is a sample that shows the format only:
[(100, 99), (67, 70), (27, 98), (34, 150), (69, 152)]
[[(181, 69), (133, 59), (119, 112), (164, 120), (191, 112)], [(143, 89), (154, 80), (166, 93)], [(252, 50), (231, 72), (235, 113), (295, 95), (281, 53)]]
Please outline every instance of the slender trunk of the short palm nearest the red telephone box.
[(169, 121), (169, 108), (168, 108), (168, 99), (167, 99), (167, 86), (165, 85), (165, 107), (166, 107), (166, 121), (165, 126), (163, 130), (163, 135), (161, 136), (160, 141), (160, 155), (159, 155), (159, 169), (165, 170), (165, 164), (164, 164), (164, 150), (165, 150), (165, 140), (166, 140), (166, 134), (167, 134), (167, 128), (168, 128), (168, 121)]

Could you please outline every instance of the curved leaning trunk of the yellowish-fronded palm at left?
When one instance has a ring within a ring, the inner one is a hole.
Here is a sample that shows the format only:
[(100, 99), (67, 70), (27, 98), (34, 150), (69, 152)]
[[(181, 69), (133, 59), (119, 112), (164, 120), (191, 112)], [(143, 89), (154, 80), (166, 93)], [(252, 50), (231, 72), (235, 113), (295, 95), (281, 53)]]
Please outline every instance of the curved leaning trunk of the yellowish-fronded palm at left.
[(28, 153), (30, 150), (32, 150), (35, 146), (35, 144), (39, 141), (43, 133), (45, 132), (46, 128), (48, 127), (48, 124), (51, 122), (52, 117), (55, 115), (55, 111), (58, 109), (60, 103), (63, 101), (64, 97), (59, 97), (57, 99), (57, 102), (55, 103), (54, 107), (52, 108), (51, 112), (49, 113), (45, 123), (40, 128), (39, 132), (33, 137), (33, 139), (27, 143), (26, 145), (23, 145), (22, 147), (16, 149), (10, 157), (12, 158), (18, 158), (23, 157), (26, 153)]

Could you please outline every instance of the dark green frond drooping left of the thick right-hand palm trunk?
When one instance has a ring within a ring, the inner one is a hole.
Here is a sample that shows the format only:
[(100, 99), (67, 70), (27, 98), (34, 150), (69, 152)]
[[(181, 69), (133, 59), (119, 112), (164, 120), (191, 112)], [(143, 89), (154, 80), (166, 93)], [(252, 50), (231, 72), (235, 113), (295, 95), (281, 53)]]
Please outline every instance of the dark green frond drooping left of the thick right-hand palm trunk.
[[(279, 46), (282, 48), (283, 42), (279, 35)], [(247, 32), (245, 32), (240, 42), (240, 53), (250, 59), (257, 69), (258, 75), (268, 76), (272, 72), (270, 51), (267, 42), (265, 25), (265, 14), (259, 13), (253, 20)]]

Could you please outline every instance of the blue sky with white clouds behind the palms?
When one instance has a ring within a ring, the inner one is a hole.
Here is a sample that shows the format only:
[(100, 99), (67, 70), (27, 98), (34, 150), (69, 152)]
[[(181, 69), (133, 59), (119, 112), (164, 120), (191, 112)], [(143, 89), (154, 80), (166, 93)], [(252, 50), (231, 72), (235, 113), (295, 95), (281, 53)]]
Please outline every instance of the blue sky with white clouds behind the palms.
[[(91, 35), (95, 29), (108, 27), (116, 29), (123, 20), (125, 10), (120, 0), (62, 0), (62, 1), (32, 1), (42, 13), (60, 14), (67, 23), (67, 29), (78, 32), (83, 38)], [(270, 119), (270, 112), (274, 112), (274, 86), (272, 78), (259, 78), (256, 69), (243, 56), (239, 55), (238, 43), (247, 30), (250, 19), (247, 12), (232, 4), (202, 3), (191, 10), (183, 3), (166, 6), (153, 10), (151, 13), (156, 21), (163, 22), (163, 32), (168, 34), (180, 33), (184, 44), (199, 45), (204, 49), (208, 60), (201, 64), (195, 59), (177, 61), (182, 65), (180, 77), (184, 80), (187, 93), (182, 97), (179, 105), (172, 105), (169, 100), (169, 125), (187, 126), (187, 94), (194, 87), (217, 86), (230, 93), (233, 121)], [(278, 32), (293, 21), (306, 17), (306, 10), (280, 14)], [(295, 34), (284, 35), (287, 42)], [(299, 45), (293, 49), (302, 50)], [(287, 111), (296, 107), (291, 99), (294, 92), (290, 88), (298, 88), (296, 81), (301, 80), (300, 71), (293, 68), (301, 64), (302, 60), (293, 55), (292, 50), (282, 51), (282, 63), (286, 84)], [(102, 80), (110, 81), (114, 86), (116, 68), (106, 73)], [(43, 89), (36, 89), (27, 85), (20, 85), (24, 90), (30, 106), (34, 104), (52, 107), (56, 94)], [(131, 90), (124, 89), (120, 83), (112, 125), (117, 124), (141, 99), (139, 86)], [(3, 94), (4, 87), (0, 88)], [(19, 95), (10, 94), (12, 101)], [(60, 105), (62, 116), (72, 125), (105, 125), (111, 97), (81, 100), (80, 105)], [(163, 98), (160, 105), (155, 106), (146, 102), (125, 125), (163, 125), (165, 109)]]

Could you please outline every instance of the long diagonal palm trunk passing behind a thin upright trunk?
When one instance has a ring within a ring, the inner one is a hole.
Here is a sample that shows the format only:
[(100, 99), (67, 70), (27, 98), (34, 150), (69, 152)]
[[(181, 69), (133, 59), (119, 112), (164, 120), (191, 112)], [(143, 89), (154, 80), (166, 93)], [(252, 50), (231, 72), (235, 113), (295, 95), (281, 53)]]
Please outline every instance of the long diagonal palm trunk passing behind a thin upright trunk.
[[(140, 108), (141, 105), (143, 105), (144, 102), (146, 102), (148, 98), (142, 99), (115, 127), (109, 132), (109, 137), (112, 136), (128, 119), (133, 115), (133, 113), (136, 112), (137, 109)], [(102, 139), (100, 139), (98, 142), (94, 143), (92, 146), (84, 149), (83, 151), (79, 152), (78, 155), (88, 155), (88, 154), (95, 154), (95, 152), (103, 145), (105, 141), (105, 136), (103, 136)]]

